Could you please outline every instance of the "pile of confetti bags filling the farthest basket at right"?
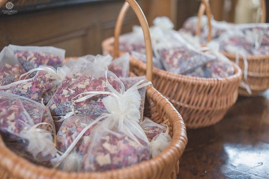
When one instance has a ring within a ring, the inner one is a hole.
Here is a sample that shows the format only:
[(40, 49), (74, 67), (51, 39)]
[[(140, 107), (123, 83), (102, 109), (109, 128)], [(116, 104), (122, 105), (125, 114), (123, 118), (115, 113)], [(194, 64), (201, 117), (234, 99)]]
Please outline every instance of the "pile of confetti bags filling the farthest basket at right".
[[(198, 17), (188, 18), (180, 33), (196, 35)], [(268, 23), (231, 24), (211, 18), (212, 40), (219, 43), (220, 50), (240, 55), (265, 55), (269, 53)], [(201, 17), (201, 41), (206, 42), (208, 36), (207, 16)]]

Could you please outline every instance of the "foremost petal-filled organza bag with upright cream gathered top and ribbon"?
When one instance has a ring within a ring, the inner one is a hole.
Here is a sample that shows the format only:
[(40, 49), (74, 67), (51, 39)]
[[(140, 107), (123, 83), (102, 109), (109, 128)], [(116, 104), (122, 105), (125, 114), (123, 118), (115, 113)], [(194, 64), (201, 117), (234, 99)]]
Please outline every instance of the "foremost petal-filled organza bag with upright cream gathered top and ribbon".
[[(90, 124), (76, 136), (64, 154), (54, 159), (54, 167), (65, 166), (69, 171), (77, 171), (77, 167), (72, 168), (75, 166), (74, 163), (66, 163), (64, 160), (70, 154), (82, 158), (79, 167), (85, 172), (119, 169), (148, 160), (150, 144), (143, 129), (138, 125), (141, 100), (137, 91), (139, 84), (140, 82), (136, 83), (124, 93), (114, 90), (109, 96), (103, 98), (102, 102), (109, 113), (101, 115), (93, 122), (88, 121)], [(98, 92), (103, 93), (103, 91)], [(90, 134), (84, 135), (85, 132)], [(81, 140), (82, 136), (84, 137)], [(65, 138), (69, 139), (67, 136)], [(81, 143), (83, 145), (80, 145)], [(83, 148), (87, 147), (82, 155), (76, 152), (77, 144)], [(74, 162), (80, 163), (78, 160)]]

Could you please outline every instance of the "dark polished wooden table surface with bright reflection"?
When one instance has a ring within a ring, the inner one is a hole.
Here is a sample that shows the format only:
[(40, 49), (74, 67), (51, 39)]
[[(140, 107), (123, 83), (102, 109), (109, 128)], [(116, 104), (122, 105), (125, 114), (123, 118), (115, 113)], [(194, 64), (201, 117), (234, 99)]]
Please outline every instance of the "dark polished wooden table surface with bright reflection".
[(187, 137), (177, 178), (269, 179), (269, 90), (239, 97), (223, 120)]

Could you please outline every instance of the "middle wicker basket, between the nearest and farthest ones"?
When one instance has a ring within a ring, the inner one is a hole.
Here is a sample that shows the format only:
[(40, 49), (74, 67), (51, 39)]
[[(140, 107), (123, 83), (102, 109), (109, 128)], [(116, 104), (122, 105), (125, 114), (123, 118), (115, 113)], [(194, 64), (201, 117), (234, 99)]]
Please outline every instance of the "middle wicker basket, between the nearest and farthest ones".
[[(119, 26), (115, 29), (121, 28), (127, 10), (128, 7), (121, 10), (117, 22)], [(115, 38), (110, 37), (103, 41), (104, 53), (117, 55), (120, 30), (115, 30), (114, 35)], [(152, 83), (182, 114), (188, 128), (201, 128), (219, 122), (236, 102), (242, 72), (236, 64), (233, 63), (233, 66), (234, 75), (218, 79), (188, 77), (153, 68)], [(131, 58), (130, 70), (136, 75), (143, 75), (146, 72), (146, 64)]]

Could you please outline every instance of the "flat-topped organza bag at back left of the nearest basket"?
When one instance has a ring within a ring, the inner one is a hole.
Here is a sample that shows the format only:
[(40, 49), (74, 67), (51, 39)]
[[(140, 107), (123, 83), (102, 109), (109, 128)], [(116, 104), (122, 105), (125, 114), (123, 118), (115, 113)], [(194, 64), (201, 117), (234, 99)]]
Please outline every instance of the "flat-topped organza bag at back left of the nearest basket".
[(9, 45), (26, 71), (40, 65), (59, 67), (65, 59), (65, 50), (56, 47)]

